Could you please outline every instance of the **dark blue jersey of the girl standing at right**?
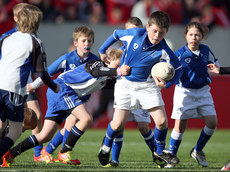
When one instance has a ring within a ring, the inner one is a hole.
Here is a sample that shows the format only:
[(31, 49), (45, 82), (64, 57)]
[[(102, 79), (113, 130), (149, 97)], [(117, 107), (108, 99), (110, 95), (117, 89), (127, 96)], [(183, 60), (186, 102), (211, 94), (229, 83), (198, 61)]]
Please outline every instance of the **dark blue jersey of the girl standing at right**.
[(175, 52), (183, 69), (183, 74), (177, 85), (199, 89), (211, 83), (207, 64), (218, 64), (218, 61), (208, 46), (200, 44), (199, 51), (196, 54), (191, 52), (186, 44)]

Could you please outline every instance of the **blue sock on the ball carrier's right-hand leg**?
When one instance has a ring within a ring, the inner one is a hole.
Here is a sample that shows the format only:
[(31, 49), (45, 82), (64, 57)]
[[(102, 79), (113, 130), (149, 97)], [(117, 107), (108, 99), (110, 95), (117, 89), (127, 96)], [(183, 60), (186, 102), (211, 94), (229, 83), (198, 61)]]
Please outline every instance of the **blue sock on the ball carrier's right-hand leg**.
[(165, 140), (166, 140), (166, 135), (168, 132), (168, 128), (159, 130), (157, 127), (154, 129), (154, 136), (155, 136), (155, 142), (156, 142), (156, 153), (157, 154), (162, 154), (162, 151), (165, 148)]

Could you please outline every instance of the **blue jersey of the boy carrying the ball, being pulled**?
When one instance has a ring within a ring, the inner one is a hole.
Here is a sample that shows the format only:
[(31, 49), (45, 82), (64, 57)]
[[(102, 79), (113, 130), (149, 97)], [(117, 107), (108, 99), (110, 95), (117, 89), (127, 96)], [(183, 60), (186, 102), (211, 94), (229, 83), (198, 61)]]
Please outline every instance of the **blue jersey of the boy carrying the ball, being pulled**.
[(105, 53), (108, 47), (118, 40), (124, 44), (120, 65), (124, 64), (131, 67), (130, 74), (125, 76), (126, 79), (135, 82), (147, 81), (152, 66), (161, 60), (172, 64), (176, 69), (174, 78), (166, 83), (166, 88), (179, 79), (181, 65), (164, 39), (159, 44), (153, 45), (148, 40), (145, 28), (115, 30), (113, 35), (100, 47), (99, 53)]

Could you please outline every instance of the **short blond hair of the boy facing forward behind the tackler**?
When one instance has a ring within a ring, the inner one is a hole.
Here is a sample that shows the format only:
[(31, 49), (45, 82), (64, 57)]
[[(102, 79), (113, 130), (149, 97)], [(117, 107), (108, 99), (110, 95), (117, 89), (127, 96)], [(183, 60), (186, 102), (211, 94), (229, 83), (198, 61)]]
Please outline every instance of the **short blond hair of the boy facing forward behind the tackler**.
[(88, 26), (76, 27), (73, 32), (73, 41), (78, 41), (81, 36), (91, 37), (94, 42), (94, 31)]

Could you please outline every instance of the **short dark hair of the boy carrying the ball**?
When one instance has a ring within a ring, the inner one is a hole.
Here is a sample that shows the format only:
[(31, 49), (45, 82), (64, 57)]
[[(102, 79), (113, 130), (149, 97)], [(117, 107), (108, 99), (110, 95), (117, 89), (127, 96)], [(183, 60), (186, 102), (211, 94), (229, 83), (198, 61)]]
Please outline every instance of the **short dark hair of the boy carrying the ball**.
[(167, 13), (163, 11), (155, 11), (151, 14), (149, 21), (149, 26), (155, 24), (160, 28), (169, 28), (170, 25), (170, 18)]

